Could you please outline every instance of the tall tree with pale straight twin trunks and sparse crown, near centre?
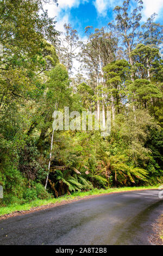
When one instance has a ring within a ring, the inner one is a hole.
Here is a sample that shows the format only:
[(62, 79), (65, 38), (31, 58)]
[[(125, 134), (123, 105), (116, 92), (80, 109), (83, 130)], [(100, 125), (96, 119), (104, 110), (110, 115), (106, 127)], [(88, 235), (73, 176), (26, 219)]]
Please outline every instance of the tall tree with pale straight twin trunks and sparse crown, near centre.
[(103, 126), (105, 126), (105, 95), (104, 95), (104, 72), (103, 68), (106, 64), (115, 59), (117, 40), (112, 33), (106, 32), (105, 28), (95, 29), (92, 27), (85, 28), (85, 33), (89, 34), (87, 44), (82, 47), (83, 62), (90, 69), (90, 76), (95, 81), (95, 93), (97, 101), (97, 118), (99, 120), (99, 112), (103, 110)]

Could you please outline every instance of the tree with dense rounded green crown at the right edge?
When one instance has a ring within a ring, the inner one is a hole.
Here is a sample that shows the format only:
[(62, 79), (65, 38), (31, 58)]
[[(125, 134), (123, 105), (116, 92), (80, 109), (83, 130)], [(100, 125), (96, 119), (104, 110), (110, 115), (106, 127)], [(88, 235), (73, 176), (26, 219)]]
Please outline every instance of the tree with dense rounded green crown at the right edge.
[(150, 102), (153, 104), (153, 101), (162, 97), (160, 83), (155, 79), (162, 70), (159, 49), (139, 44), (131, 52), (131, 57), (135, 75), (129, 87), (130, 92), (141, 106), (147, 108)]

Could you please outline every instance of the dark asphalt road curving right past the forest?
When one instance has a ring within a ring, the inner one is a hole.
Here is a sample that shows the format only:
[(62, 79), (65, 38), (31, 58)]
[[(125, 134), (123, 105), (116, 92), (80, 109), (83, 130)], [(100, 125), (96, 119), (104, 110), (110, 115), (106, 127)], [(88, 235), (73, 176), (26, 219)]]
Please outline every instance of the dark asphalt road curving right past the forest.
[(80, 200), (0, 221), (0, 245), (148, 245), (158, 190)]

